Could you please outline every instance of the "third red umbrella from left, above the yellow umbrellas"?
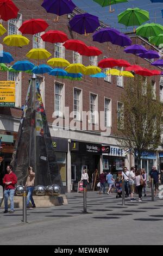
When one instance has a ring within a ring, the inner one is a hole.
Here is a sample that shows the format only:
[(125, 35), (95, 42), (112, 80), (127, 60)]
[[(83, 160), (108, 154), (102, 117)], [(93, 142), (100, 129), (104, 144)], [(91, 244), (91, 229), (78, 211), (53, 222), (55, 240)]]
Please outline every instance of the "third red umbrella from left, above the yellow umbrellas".
[(41, 35), (41, 38), (45, 42), (52, 42), (52, 44), (55, 42), (65, 42), (68, 40), (67, 35), (58, 30), (49, 30), (45, 34)]

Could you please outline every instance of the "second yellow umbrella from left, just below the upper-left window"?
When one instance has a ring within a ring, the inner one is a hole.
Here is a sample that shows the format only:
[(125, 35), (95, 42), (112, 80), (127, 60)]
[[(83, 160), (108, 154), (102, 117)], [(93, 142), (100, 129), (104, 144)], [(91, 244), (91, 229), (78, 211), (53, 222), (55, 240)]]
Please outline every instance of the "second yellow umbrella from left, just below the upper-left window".
[(8, 35), (3, 39), (4, 44), (8, 46), (22, 47), (29, 44), (29, 39), (23, 35)]

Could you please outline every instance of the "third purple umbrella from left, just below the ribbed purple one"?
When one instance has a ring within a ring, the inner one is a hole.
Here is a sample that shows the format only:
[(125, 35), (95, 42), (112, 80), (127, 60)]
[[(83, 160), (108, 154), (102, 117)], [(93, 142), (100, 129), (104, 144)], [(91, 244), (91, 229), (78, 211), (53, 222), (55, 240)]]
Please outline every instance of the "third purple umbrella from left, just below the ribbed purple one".
[(120, 32), (115, 28), (102, 28), (93, 34), (93, 41), (110, 42), (119, 34)]

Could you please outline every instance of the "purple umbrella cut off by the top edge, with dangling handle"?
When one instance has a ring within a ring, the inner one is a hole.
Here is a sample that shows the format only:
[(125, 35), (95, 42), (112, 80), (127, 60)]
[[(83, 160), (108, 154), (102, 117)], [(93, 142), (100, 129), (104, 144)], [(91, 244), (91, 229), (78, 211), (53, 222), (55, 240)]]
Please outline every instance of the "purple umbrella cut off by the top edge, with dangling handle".
[(44, 0), (41, 4), (46, 9), (47, 13), (57, 14), (58, 16), (72, 13), (76, 5), (71, 0)]

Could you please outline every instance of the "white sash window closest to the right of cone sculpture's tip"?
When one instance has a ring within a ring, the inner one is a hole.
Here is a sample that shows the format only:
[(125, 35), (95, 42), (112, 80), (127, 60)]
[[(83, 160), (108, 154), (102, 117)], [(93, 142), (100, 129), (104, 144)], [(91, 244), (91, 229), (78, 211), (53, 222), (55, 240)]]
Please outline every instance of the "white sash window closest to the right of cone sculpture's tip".
[(55, 83), (55, 116), (63, 117), (64, 115), (64, 85), (60, 83)]

